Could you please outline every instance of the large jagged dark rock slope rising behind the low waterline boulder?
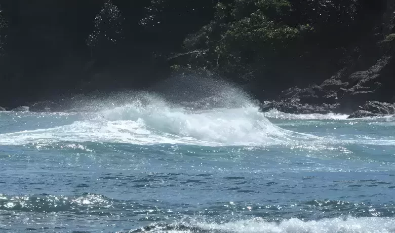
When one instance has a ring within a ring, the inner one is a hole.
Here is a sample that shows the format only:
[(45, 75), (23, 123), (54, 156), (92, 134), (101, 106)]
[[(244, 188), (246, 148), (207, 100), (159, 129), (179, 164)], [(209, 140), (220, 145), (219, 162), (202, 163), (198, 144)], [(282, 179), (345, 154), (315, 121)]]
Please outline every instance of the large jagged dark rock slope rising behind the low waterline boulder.
[[(367, 70), (350, 72), (352, 69), (344, 68), (321, 85), (313, 84), (304, 89), (294, 87), (283, 91), (278, 100), (263, 104), (262, 110), (275, 108), (286, 113), (341, 112), (349, 114), (358, 110), (361, 104), (369, 100), (393, 101), (395, 98), (393, 65), (395, 65), (395, 59), (389, 55), (383, 55)], [(368, 103), (369, 106), (366, 104), (364, 106), (369, 109), (360, 110), (377, 114), (392, 114), (376, 109), (371, 111), (371, 108), (377, 106), (372, 103), (379, 102)], [(372, 115), (361, 111), (355, 114)]]

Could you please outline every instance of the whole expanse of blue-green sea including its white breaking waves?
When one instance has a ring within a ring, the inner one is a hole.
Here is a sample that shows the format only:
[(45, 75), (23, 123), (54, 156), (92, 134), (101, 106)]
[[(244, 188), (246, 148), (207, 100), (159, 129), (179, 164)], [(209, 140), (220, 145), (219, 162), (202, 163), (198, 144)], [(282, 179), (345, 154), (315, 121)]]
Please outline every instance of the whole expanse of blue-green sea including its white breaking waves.
[(0, 112), (0, 232), (395, 232), (391, 116), (111, 101)]

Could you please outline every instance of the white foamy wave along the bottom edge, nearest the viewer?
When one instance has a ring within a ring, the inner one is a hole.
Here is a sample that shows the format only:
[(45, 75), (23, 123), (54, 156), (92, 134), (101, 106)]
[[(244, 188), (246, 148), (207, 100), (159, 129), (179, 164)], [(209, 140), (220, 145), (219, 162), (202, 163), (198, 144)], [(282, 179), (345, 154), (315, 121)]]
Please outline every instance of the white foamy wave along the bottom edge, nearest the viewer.
[(174, 225), (156, 224), (129, 232), (231, 232), (231, 233), (393, 233), (394, 218), (329, 218), (319, 221), (302, 221), (297, 218), (282, 222), (268, 222), (261, 218), (228, 223), (191, 221)]

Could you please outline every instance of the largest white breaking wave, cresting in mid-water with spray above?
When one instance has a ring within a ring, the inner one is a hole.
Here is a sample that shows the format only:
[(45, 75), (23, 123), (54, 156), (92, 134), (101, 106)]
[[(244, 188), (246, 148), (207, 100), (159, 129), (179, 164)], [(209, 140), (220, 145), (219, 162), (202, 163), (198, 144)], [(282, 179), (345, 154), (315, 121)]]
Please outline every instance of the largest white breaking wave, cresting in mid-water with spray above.
[(259, 107), (192, 110), (162, 99), (98, 112), (96, 117), (49, 129), (0, 135), (0, 144), (114, 142), (130, 144), (279, 145), (318, 137), (282, 129), (270, 123)]

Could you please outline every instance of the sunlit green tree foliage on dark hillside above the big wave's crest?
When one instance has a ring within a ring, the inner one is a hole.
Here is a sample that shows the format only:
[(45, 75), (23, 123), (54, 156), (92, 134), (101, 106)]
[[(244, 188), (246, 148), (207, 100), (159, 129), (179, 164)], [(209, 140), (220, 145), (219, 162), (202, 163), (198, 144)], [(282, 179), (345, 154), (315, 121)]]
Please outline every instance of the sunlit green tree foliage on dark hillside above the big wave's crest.
[(184, 67), (247, 77), (245, 74), (261, 66), (262, 60), (286, 47), (300, 35), (301, 29), (308, 27), (293, 27), (282, 22), (290, 7), (287, 0), (218, 3), (215, 20), (184, 41), (188, 51), (207, 52), (189, 56)]

